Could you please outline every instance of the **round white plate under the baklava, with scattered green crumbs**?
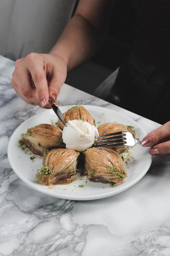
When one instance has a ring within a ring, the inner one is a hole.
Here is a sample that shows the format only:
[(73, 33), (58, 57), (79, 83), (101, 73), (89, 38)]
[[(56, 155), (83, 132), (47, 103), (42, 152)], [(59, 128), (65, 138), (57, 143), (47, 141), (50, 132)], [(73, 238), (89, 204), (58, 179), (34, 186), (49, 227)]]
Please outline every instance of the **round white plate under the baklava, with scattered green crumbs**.
[[(60, 107), (62, 112), (65, 112), (72, 106)], [(84, 106), (96, 120), (96, 126), (106, 122), (114, 122), (134, 126), (137, 131), (137, 138), (142, 139), (146, 132), (132, 119), (115, 112), (113, 110), (97, 107), (97, 106)], [(18, 146), (18, 140), (21, 139), (21, 134), (25, 133), (27, 128), (36, 126), (38, 124), (47, 123), (52, 124), (57, 121), (57, 117), (53, 110), (46, 110), (40, 114), (30, 117), (24, 121), (16, 130), (13, 132), (8, 145), (8, 158), (13, 171), (20, 177), (20, 179), (28, 184), (31, 188), (36, 189), (47, 195), (51, 195), (57, 198), (68, 199), (68, 200), (94, 200), (100, 198), (106, 198), (111, 195), (120, 193), (134, 184), (136, 184), (148, 171), (152, 157), (148, 154), (147, 148), (142, 148), (140, 145), (135, 145), (131, 149), (131, 159), (128, 162), (126, 171), (128, 177), (120, 185), (110, 187), (110, 184), (102, 184), (97, 182), (88, 181), (87, 177), (79, 177), (76, 181), (66, 185), (55, 185), (53, 189), (49, 186), (38, 184), (35, 179), (35, 174), (40, 171), (42, 166), (42, 158), (35, 157), (34, 162), (31, 162), (29, 153), (25, 153)], [(125, 156), (126, 157), (126, 156)], [(84, 186), (79, 186), (84, 185)]]

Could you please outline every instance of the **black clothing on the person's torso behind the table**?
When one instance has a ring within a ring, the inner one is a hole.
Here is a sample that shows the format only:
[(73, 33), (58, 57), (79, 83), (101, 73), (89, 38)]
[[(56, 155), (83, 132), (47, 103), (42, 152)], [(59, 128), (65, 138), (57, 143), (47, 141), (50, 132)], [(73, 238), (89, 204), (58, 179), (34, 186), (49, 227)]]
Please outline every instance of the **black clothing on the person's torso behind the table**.
[(121, 64), (107, 101), (160, 124), (170, 120), (170, 0), (131, 0), (133, 53)]

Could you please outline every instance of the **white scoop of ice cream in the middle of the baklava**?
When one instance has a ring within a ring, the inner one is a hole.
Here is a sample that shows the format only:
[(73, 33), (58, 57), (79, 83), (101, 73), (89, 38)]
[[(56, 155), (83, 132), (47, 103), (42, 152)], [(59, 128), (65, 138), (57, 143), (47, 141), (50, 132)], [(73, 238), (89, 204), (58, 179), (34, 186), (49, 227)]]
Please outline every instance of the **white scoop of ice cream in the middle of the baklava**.
[(79, 152), (84, 151), (86, 148), (91, 148), (95, 138), (98, 136), (98, 130), (94, 125), (77, 119), (69, 120), (62, 132), (62, 139), (66, 144), (66, 148)]

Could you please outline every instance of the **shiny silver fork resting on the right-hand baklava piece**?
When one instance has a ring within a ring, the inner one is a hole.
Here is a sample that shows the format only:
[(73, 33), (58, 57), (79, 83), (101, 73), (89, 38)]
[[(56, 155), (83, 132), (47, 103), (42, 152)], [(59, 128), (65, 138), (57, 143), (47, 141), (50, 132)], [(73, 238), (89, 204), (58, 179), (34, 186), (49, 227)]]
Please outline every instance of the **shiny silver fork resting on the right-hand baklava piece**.
[(134, 146), (141, 144), (131, 132), (113, 132), (99, 136), (96, 141), (97, 148), (109, 148), (112, 146)]

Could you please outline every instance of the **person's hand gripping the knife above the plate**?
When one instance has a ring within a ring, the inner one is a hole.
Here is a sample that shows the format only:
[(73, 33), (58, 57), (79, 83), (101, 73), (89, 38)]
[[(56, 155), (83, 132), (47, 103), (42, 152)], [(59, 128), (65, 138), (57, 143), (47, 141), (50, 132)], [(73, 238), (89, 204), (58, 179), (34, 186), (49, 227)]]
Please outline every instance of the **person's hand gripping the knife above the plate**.
[(54, 54), (28, 54), (15, 61), (11, 84), (27, 103), (51, 108), (66, 80), (67, 67), (62, 58)]

